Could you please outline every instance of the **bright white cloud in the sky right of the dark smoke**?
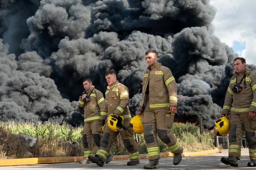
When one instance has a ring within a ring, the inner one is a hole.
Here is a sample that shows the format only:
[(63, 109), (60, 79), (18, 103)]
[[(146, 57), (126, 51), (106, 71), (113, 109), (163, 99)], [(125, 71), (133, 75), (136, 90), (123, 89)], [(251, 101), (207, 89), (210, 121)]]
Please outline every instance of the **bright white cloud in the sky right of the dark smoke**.
[(241, 56), (246, 58), (246, 63), (256, 65), (256, 0), (211, 0), (210, 3), (217, 10), (214, 34), (230, 47), (233, 41), (245, 42), (246, 49)]

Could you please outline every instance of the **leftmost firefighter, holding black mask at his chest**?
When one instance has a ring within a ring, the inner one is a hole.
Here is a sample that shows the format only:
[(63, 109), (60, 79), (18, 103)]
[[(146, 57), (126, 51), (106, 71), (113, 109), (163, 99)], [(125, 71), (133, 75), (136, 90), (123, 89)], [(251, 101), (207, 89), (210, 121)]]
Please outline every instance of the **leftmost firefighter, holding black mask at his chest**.
[[(102, 120), (107, 115), (104, 112), (105, 100), (102, 92), (95, 89), (93, 82), (90, 79), (83, 81), (86, 93), (79, 97), (78, 109), (84, 110), (84, 131), (83, 131), (83, 146), (84, 146), (84, 159), (79, 163), (91, 163), (87, 158), (93, 155), (93, 140), (97, 147), (100, 147), (100, 140), (102, 138)], [(105, 123), (105, 120), (103, 120)], [(113, 154), (108, 153), (106, 163), (112, 160)]]

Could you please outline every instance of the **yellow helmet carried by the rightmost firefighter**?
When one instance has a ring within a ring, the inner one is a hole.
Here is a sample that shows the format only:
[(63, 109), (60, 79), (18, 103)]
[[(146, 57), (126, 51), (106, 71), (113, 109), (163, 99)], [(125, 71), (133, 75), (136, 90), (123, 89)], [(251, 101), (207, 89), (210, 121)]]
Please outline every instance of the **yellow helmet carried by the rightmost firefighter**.
[(229, 134), (230, 126), (226, 116), (217, 119), (215, 125), (217, 126), (216, 136), (225, 136)]

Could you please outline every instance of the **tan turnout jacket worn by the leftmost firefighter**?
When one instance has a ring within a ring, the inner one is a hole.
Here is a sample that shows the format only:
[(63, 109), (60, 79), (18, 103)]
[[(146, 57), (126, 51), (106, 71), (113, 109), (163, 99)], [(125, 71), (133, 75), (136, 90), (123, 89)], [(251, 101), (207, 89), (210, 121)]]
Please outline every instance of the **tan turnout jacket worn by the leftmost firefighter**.
[[(91, 90), (93, 91), (91, 92)], [(84, 122), (102, 120), (104, 116), (108, 114), (104, 112), (105, 100), (102, 92), (95, 89), (94, 86), (91, 86), (91, 88), (86, 91), (86, 94), (90, 94), (90, 101), (84, 103), (82, 96), (80, 96), (77, 105), (78, 109), (84, 110)]]

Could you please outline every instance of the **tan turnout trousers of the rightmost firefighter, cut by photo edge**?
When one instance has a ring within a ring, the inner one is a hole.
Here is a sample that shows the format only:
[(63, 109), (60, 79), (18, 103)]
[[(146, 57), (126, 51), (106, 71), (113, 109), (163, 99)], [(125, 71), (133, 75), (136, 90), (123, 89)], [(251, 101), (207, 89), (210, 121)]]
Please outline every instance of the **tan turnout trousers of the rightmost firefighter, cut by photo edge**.
[(248, 113), (230, 114), (229, 150), (228, 156), (241, 156), (241, 140), (243, 132), (248, 142), (249, 155), (251, 160), (256, 160), (256, 116), (249, 119)]

